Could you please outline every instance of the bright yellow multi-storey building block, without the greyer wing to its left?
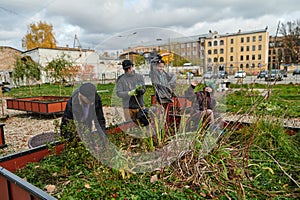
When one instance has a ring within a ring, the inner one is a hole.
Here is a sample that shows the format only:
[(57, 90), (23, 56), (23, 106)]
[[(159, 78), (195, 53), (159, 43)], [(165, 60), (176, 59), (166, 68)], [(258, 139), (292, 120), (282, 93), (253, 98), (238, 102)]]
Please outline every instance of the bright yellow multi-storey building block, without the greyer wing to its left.
[(257, 31), (219, 34), (210, 31), (205, 38), (206, 70), (227, 70), (234, 74), (244, 70), (255, 74), (268, 68), (269, 33), (267, 28)]

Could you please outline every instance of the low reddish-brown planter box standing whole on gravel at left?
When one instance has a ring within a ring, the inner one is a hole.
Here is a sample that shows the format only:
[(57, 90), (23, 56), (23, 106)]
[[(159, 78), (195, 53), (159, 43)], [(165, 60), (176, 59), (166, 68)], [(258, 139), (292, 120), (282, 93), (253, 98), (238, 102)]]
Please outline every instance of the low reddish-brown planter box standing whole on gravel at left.
[(21, 110), (40, 114), (55, 114), (65, 110), (69, 97), (38, 96), (7, 99), (7, 109)]

